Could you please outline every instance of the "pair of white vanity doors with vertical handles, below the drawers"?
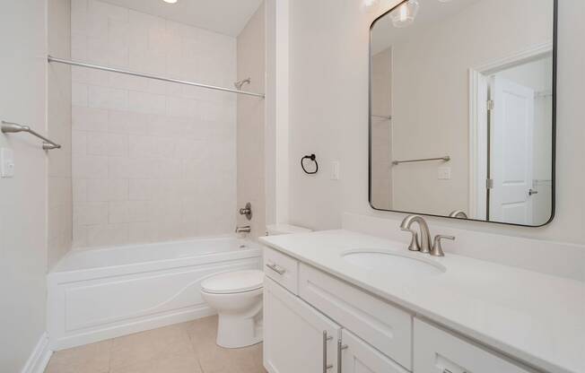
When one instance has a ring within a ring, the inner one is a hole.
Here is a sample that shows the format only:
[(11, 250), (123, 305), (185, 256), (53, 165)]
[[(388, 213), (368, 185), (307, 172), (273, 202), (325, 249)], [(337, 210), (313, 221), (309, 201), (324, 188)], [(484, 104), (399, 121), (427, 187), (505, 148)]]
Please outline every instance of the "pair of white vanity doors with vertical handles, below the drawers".
[(269, 373), (407, 373), (271, 279), (265, 281), (264, 307)]

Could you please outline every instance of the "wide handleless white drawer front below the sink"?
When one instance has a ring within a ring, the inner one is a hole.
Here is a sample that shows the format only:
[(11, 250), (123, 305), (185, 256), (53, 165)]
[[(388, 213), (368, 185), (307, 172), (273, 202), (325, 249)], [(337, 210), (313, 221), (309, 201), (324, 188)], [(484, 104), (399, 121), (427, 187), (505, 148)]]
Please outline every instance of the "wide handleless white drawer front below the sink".
[(310, 265), (301, 264), (299, 277), (301, 299), (412, 370), (410, 314)]

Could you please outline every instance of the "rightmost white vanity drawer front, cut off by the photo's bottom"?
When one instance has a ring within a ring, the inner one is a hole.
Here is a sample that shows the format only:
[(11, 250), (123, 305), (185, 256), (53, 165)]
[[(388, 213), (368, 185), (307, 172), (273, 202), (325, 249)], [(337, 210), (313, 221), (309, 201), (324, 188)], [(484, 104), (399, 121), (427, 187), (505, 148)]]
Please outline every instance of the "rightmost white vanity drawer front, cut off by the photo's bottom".
[(419, 319), (415, 319), (415, 372), (532, 373)]

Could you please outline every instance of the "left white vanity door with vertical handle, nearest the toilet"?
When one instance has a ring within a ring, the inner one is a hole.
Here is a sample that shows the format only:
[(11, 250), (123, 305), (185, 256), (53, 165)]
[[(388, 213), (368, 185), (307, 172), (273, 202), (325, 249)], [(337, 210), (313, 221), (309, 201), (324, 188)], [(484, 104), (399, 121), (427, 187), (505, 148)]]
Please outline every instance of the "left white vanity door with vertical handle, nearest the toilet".
[(341, 328), (273, 280), (264, 288), (264, 366), (269, 373), (335, 373)]

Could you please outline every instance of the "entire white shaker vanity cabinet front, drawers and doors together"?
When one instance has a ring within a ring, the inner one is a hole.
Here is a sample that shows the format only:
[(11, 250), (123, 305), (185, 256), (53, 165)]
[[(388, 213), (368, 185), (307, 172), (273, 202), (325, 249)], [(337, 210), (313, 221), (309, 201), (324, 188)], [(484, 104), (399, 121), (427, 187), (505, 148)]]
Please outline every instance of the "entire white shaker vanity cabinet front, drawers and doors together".
[(265, 264), (269, 373), (534, 373), (291, 256)]

